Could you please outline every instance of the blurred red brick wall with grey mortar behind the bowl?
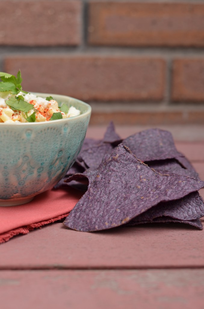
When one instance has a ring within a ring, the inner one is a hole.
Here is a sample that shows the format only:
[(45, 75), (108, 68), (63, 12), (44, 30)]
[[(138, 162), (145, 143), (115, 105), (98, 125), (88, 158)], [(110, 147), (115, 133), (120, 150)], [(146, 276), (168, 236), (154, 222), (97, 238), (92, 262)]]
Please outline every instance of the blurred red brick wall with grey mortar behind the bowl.
[(0, 66), (92, 124), (203, 124), (204, 0), (1, 0)]

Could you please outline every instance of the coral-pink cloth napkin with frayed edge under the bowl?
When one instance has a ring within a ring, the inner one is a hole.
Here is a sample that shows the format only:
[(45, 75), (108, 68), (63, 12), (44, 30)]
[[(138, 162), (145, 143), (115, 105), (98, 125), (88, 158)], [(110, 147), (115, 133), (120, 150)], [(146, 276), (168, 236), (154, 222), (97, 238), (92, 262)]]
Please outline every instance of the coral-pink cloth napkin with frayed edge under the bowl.
[(0, 207), (0, 243), (18, 234), (67, 217), (83, 193), (75, 189), (48, 190), (34, 197), (30, 203)]

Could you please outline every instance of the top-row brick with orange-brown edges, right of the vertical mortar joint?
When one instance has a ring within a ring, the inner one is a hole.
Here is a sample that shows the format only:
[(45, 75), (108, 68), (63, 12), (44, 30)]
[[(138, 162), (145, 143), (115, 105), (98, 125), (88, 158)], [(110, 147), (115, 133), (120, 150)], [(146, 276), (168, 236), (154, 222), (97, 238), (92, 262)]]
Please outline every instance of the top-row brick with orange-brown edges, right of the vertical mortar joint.
[(204, 4), (91, 2), (95, 45), (204, 46)]

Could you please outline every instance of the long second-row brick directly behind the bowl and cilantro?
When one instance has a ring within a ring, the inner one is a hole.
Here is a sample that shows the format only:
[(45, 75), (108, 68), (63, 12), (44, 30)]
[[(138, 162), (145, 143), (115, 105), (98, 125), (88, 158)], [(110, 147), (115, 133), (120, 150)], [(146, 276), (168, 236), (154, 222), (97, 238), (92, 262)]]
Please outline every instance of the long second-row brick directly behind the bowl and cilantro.
[(70, 95), (82, 100), (161, 100), (165, 62), (138, 57), (10, 57), (5, 72), (22, 70), (27, 91)]

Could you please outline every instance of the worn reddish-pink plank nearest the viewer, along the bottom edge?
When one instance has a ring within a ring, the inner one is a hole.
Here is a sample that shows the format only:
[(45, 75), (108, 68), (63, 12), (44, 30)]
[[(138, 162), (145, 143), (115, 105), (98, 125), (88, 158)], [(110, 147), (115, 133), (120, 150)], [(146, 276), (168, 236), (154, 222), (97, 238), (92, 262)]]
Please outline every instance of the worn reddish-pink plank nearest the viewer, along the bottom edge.
[(2, 309), (203, 309), (204, 270), (1, 271)]

